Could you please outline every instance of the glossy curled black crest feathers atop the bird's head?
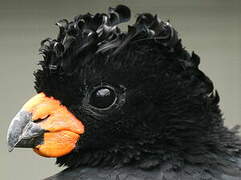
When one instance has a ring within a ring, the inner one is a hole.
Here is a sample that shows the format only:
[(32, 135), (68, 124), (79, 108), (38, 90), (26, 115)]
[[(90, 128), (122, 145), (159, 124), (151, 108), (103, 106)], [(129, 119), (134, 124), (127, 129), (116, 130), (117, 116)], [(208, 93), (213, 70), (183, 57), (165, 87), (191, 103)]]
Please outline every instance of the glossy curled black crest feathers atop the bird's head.
[[(127, 6), (109, 8), (108, 13), (90, 13), (76, 16), (73, 21), (66, 19), (56, 23), (59, 33), (56, 39), (41, 42), (40, 53), (44, 56), (49, 69), (73, 72), (73, 67), (81, 59), (91, 59), (95, 54), (118, 54), (130, 43), (152, 41), (167, 51), (173, 52), (178, 46), (176, 30), (169, 22), (161, 21), (156, 15), (140, 14), (135, 24), (122, 32), (119, 24), (130, 19), (131, 11)], [(81, 58), (80, 58), (81, 57)], [(193, 55), (193, 61), (198, 61)], [(194, 64), (198, 64), (195, 62)]]

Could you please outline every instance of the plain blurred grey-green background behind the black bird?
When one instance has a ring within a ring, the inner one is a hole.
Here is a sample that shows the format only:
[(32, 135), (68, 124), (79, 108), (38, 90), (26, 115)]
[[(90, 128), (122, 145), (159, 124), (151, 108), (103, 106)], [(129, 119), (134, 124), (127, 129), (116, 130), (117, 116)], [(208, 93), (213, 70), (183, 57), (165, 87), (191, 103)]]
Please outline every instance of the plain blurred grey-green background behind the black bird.
[[(63, 168), (31, 149), (7, 151), (8, 125), (35, 94), (33, 71), (39, 43), (56, 37), (54, 23), (86, 12), (106, 12), (126, 4), (132, 17), (142, 12), (170, 20), (189, 51), (201, 57), (201, 69), (221, 97), (225, 124), (241, 124), (240, 0), (0, 0), (0, 179), (38, 180)], [(134, 18), (133, 18), (134, 19)], [(132, 22), (133, 22), (132, 19)]]

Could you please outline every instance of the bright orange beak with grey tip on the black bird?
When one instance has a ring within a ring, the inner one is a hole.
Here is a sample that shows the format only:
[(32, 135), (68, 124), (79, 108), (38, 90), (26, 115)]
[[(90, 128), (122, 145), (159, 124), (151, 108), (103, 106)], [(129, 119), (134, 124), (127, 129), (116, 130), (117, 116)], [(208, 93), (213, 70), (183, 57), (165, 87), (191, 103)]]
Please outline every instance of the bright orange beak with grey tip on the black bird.
[(83, 133), (84, 125), (60, 101), (39, 93), (13, 118), (7, 142), (9, 151), (25, 147), (41, 156), (60, 157), (75, 148)]

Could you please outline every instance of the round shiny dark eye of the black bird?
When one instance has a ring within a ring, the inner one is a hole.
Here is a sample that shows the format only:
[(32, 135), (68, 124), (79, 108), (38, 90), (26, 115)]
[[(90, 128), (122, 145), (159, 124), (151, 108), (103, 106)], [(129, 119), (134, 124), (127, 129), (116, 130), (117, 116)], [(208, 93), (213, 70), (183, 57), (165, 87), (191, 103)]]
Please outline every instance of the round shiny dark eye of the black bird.
[(89, 103), (96, 108), (104, 109), (113, 105), (115, 101), (115, 91), (108, 87), (101, 87), (92, 92)]

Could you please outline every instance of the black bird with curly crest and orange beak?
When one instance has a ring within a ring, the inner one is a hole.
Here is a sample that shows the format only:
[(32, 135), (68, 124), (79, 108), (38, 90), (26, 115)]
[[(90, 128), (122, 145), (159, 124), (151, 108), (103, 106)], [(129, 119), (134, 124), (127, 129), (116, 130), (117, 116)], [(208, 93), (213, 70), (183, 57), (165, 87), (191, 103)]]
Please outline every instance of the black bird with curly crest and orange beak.
[(9, 125), (9, 151), (66, 169), (46, 180), (240, 180), (239, 126), (177, 30), (131, 10), (81, 14), (41, 42), (36, 95)]

